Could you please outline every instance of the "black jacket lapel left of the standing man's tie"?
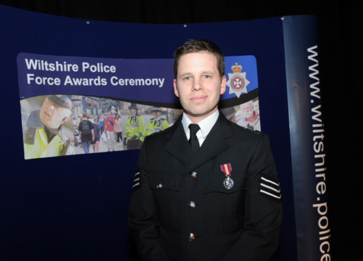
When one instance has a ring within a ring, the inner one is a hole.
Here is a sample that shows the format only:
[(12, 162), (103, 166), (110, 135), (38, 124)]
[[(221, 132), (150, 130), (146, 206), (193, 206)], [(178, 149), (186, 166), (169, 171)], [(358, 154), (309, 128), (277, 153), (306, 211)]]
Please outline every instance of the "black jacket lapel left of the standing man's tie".
[(170, 139), (169, 144), (165, 147), (165, 150), (190, 166), (194, 155), (187, 140), (187, 135), (185, 135), (183, 124), (181, 122), (182, 117), (183, 114), (179, 117), (175, 124), (170, 127), (167, 135), (165, 135), (166, 139)]

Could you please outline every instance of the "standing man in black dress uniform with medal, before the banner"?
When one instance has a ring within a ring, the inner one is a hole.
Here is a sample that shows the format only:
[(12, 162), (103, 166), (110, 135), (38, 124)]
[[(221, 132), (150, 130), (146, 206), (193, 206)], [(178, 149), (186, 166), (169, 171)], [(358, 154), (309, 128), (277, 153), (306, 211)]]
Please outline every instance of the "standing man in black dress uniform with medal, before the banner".
[(281, 194), (268, 136), (218, 111), (224, 56), (210, 41), (174, 53), (184, 113), (145, 138), (128, 225), (143, 260), (268, 260), (279, 244)]

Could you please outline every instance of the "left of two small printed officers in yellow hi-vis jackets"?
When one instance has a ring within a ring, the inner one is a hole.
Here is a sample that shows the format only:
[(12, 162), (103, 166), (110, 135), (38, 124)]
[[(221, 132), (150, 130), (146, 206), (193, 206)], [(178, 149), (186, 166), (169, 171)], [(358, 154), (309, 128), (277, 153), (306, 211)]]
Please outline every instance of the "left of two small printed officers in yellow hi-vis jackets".
[(128, 150), (136, 150), (141, 148), (141, 135), (145, 129), (143, 117), (137, 113), (137, 106), (134, 103), (130, 103), (128, 106), (130, 114), (126, 121), (126, 132), (124, 137), (124, 145), (127, 144)]

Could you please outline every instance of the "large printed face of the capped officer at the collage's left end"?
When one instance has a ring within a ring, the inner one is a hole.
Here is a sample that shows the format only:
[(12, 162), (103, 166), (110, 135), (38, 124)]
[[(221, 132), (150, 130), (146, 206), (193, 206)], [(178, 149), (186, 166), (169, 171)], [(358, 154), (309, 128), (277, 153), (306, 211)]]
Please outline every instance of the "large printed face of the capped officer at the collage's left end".
[(62, 108), (45, 98), (39, 116), (47, 128), (58, 128), (60, 124), (70, 120), (69, 115), (71, 115), (71, 110)]

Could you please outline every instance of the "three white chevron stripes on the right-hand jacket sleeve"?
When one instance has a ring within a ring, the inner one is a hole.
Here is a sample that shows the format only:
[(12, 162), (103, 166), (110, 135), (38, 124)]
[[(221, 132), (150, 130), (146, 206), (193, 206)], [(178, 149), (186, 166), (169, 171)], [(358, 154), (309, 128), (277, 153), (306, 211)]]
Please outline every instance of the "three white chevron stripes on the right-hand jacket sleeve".
[(281, 202), (279, 181), (266, 174), (261, 174), (259, 178), (259, 194), (272, 201)]

